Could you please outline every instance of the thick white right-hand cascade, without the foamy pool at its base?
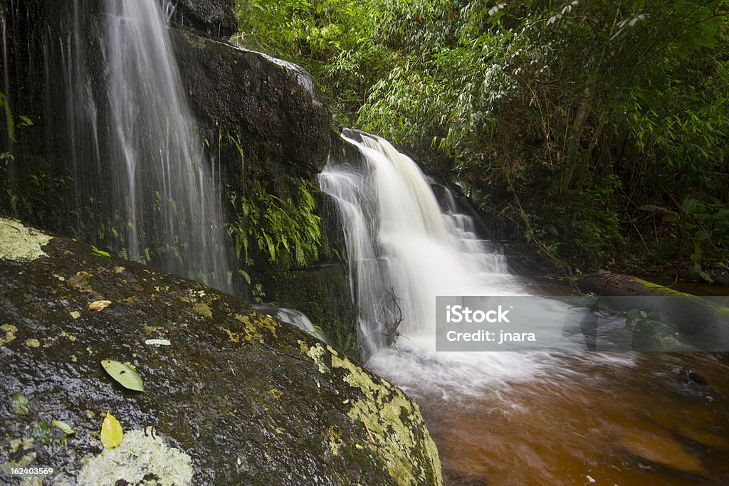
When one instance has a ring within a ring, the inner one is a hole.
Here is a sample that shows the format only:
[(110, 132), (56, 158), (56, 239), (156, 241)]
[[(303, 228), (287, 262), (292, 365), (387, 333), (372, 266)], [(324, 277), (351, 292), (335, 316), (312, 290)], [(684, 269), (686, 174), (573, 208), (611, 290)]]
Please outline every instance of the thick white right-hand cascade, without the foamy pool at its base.
[(437, 295), (521, 293), (503, 254), (476, 237), (448, 192), (440, 208), (410, 157), (376, 136), (346, 130), (344, 138), (364, 164), (329, 165), (319, 179), (340, 212), (368, 354), (398, 336), (432, 349)]

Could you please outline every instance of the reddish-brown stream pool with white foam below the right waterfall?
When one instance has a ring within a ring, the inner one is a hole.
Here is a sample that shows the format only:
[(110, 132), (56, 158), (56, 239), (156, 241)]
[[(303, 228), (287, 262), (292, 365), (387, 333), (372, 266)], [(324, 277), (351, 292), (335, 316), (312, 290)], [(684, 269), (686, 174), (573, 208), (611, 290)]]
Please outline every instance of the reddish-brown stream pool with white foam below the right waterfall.
[[(419, 404), (446, 485), (729, 485), (726, 358), (439, 355), (400, 348), (369, 367)], [(684, 383), (686, 366), (706, 384)]]

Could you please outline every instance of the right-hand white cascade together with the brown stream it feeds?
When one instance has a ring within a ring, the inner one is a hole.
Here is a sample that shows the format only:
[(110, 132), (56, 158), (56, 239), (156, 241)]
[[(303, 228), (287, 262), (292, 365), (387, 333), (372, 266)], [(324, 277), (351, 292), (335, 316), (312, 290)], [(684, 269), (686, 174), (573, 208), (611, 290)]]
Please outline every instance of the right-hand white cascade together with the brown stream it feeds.
[[(364, 160), (320, 182), (340, 211), (367, 367), (418, 402), (446, 484), (729, 484), (729, 372), (709, 354), (436, 352), (437, 295), (528, 286), (413, 160), (344, 136)], [(677, 379), (686, 365), (709, 385)]]

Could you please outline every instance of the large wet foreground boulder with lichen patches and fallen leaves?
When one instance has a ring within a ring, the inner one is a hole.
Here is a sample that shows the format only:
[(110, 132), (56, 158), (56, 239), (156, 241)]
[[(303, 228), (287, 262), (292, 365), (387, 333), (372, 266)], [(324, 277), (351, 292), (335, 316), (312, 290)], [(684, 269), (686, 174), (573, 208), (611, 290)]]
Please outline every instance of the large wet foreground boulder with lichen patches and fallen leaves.
[[(96, 300), (112, 304), (88, 310)], [(146, 393), (103, 359), (136, 367)], [(0, 463), (52, 466), (54, 484), (443, 482), (417, 405), (332, 348), (200, 283), (2, 218), (0, 375)], [(125, 431), (113, 450), (107, 410)], [(41, 420), (75, 434), (64, 445), (52, 428), (44, 443)]]

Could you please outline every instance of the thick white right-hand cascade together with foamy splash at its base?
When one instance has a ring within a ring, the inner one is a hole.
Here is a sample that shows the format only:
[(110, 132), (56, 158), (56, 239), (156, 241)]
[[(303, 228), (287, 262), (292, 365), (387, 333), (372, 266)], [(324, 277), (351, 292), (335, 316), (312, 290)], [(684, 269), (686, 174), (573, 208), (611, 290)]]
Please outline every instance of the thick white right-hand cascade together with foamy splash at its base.
[[(584, 371), (574, 371), (565, 356), (550, 353), (436, 352), (436, 296), (526, 295), (526, 289), (508, 273), (503, 254), (477, 238), (472, 219), (457, 213), (451, 195), (440, 207), (413, 160), (382, 138), (353, 131), (344, 137), (364, 163), (327, 166), (320, 183), (340, 211), (367, 367), (414, 396), (461, 401), (506, 393), (518, 383), (586, 378), (591, 366), (633, 364), (628, 355), (595, 353), (580, 356)], [(383, 338), (399, 318), (391, 289), (402, 310), (394, 348)]]

